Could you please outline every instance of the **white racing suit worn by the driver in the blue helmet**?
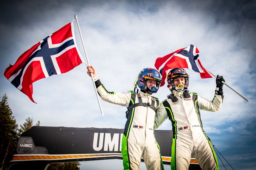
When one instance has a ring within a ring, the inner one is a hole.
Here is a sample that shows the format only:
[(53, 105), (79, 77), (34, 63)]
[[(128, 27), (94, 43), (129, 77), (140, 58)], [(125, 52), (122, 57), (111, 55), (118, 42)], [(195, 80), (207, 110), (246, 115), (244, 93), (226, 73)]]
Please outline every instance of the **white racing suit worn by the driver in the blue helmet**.
[[(104, 101), (127, 108), (136, 103), (150, 105), (133, 107), (126, 112), (127, 121), (121, 149), (124, 169), (140, 169), (141, 157), (144, 159), (147, 169), (164, 169), (159, 145), (154, 136), (155, 110), (158, 109), (158, 99), (141, 91), (138, 94), (133, 91), (109, 92), (98, 79), (95, 80), (95, 85)], [(139, 96), (142, 99), (141, 102), (139, 102)]]

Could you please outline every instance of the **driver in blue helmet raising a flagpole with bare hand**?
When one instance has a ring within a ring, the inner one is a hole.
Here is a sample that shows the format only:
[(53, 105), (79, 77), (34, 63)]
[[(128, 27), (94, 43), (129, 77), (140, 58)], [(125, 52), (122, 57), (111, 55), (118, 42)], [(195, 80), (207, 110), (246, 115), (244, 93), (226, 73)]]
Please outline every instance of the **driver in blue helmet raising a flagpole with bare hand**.
[[(93, 74), (97, 91), (102, 100), (127, 107), (126, 124), (122, 138), (122, 157), (124, 169), (140, 169), (141, 157), (147, 169), (164, 169), (159, 145), (154, 136), (154, 121), (159, 104), (152, 94), (156, 93), (162, 78), (153, 68), (145, 68), (139, 74), (135, 85), (141, 90), (135, 93), (109, 92), (98, 79), (92, 66), (87, 67), (87, 73)], [(162, 106), (162, 104), (161, 104)]]

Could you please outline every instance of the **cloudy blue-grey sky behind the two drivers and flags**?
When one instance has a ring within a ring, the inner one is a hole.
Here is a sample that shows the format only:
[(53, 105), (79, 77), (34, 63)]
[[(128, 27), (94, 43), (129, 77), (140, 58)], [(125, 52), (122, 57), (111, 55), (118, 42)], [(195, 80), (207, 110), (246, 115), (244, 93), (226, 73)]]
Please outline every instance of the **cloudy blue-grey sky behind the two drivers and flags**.
[[(133, 90), (141, 69), (154, 67), (156, 58), (193, 44), (199, 49), (200, 61), (206, 69), (223, 75), (228, 85), (250, 100), (246, 102), (224, 86), (221, 110), (201, 111), (204, 129), (234, 169), (254, 169), (255, 7), (255, 1), (220, 0), (4, 2), (0, 7), (0, 96), (7, 94), (18, 125), (33, 117), (41, 126), (124, 128), (125, 107), (101, 100), (101, 116), (84, 63), (65, 74), (33, 83), (37, 104), (4, 77), (4, 70), (27, 49), (71, 22), (74, 14), (78, 15), (90, 64), (109, 91)], [(74, 30), (86, 60), (76, 21)], [(187, 71), (190, 92), (211, 100), (215, 80), (201, 79), (198, 73)], [(162, 101), (169, 93), (163, 86), (155, 96)], [(170, 121), (159, 129), (172, 129)], [(111, 163), (88, 161), (80, 167), (94, 169), (96, 165), (96, 169), (106, 169), (105, 165)], [(115, 163), (116, 169), (122, 169), (121, 160)], [(219, 164), (223, 169), (220, 160)], [(146, 169), (144, 163), (141, 169)]]

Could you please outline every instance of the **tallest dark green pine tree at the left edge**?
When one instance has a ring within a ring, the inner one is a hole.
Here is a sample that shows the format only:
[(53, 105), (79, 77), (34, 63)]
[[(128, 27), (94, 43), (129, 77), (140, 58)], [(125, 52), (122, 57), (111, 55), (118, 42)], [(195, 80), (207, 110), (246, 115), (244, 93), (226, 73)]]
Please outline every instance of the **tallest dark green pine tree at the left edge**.
[(18, 124), (12, 116), (13, 113), (7, 99), (8, 97), (5, 94), (0, 101), (0, 170), (4, 169), (5, 165), (12, 159), (18, 139)]

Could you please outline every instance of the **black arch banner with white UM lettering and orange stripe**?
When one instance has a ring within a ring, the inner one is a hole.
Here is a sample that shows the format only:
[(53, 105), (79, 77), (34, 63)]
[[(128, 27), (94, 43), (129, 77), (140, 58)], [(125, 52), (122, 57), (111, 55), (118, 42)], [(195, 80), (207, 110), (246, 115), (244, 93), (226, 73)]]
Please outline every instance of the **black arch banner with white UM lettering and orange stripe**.
[[(33, 126), (20, 136), (9, 170), (22, 165), (26, 169), (44, 169), (53, 162), (122, 159), (123, 130)], [(172, 130), (155, 130), (154, 134), (163, 163), (170, 165)], [(198, 169), (195, 159), (191, 158), (190, 163), (189, 169)]]

